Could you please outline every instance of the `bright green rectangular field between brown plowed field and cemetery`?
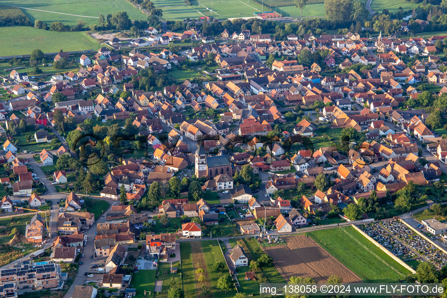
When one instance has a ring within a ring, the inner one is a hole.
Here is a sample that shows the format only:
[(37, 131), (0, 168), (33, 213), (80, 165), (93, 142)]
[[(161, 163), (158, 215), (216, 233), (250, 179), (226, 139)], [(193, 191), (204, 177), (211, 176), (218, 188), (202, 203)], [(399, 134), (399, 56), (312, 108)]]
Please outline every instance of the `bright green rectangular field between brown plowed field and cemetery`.
[[(364, 281), (395, 282), (409, 271), (353, 227), (306, 233)], [(369, 250), (366, 250), (365, 247)]]

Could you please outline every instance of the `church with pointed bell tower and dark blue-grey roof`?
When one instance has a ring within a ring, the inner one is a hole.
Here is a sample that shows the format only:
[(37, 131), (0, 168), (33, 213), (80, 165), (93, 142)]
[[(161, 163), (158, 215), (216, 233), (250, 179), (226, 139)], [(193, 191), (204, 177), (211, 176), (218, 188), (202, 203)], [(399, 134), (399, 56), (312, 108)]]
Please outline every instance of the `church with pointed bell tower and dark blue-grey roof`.
[(228, 155), (212, 155), (207, 156), (207, 152), (203, 148), (203, 143), (200, 142), (195, 152), (195, 176), (200, 178), (202, 176), (209, 176), (213, 178), (220, 174), (228, 174), (233, 176), (232, 164)]

